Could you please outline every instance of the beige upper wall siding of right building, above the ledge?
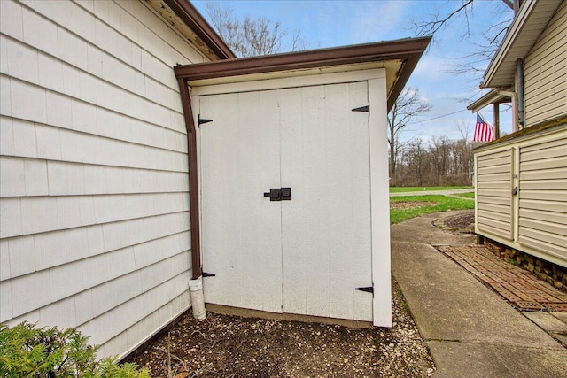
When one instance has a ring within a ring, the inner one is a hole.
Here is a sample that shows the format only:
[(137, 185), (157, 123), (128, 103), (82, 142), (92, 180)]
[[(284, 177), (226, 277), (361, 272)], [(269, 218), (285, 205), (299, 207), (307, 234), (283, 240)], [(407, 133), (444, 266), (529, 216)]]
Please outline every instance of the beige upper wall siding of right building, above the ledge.
[(567, 2), (563, 2), (524, 62), (525, 124), (567, 114)]

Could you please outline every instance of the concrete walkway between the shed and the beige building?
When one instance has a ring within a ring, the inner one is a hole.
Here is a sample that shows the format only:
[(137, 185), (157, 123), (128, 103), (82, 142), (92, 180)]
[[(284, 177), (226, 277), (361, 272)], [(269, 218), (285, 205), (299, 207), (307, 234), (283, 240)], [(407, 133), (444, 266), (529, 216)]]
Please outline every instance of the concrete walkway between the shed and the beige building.
[(435, 377), (567, 377), (567, 350), (431, 245), (474, 243), (432, 226), (392, 226), (392, 274), (437, 366)]

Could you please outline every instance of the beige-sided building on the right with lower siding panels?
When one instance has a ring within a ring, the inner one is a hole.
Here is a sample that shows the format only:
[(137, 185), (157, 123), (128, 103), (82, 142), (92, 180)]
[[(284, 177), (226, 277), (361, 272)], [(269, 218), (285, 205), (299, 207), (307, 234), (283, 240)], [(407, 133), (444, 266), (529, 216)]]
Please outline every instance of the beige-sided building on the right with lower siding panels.
[(567, 2), (522, 3), (483, 86), (515, 132), (475, 150), (476, 232), (567, 267)]

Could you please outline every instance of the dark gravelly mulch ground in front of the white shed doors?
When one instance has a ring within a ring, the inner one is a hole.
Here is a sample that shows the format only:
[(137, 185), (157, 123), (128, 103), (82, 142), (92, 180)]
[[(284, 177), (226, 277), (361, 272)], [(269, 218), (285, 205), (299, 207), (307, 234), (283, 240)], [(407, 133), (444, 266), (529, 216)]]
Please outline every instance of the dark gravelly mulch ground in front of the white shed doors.
[(431, 376), (433, 361), (394, 280), (392, 320), (392, 328), (346, 328), (211, 312), (198, 321), (188, 312), (125, 362), (152, 377)]

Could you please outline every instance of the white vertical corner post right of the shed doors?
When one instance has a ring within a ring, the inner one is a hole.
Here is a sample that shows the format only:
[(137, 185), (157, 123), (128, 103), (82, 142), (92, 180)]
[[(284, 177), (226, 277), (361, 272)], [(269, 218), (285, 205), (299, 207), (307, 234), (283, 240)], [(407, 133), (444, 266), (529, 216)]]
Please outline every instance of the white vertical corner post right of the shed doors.
[[(372, 323), (392, 327), (390, 194), (388, 185), (387, 94), (384, 77), (369, 80), (370, 205), (372, 235)], [(384, 210), (385, 209), (385, 210)]]

